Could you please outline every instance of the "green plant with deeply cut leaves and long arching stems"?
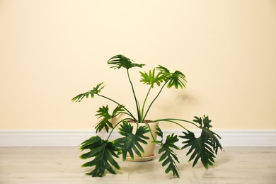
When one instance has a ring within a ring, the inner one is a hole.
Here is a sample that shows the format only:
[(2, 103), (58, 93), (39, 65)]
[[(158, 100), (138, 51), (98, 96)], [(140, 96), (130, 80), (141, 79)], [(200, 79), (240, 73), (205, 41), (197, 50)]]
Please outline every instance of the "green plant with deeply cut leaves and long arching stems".
[[(82, 165), (83, 167), (93, 167), (93, 170), (90, 173), (86, 173), (86, 175), (101, 177), (105, 176), (106, 171), (116, 174), (115, 170), (120, 169), (120, 166), (115, 158), (119, 158), (120, 154), (122, 154), (122, 161), (127, 160), (127, 157), (131, 159), (134, 159), (135, 156), (143, 158), (142, 154), (144, 153), (144, 148), (142, 145), (146, 144), (159, 145), (158, 153), (161, 154), (159, 162), (162, 162), (161, 166), (166, 166), (165, 173), (172, 172), (173, 176), (178, 178), (179, 173), (176, 163), (179, 163), (179, 161), (174, 150), (182, 150), (190, 147), (186, 155), (190, 155), (189, 161), (193, 160), (192, 166), (195, 166), (199, 159), (205, 168), (213, 166), (215, 154), (217, 154), (218, 149), (222, 150), (222, 145), (219, 143), (221, 137), (210, 130), (212, 125), (210, 125), (211, 120), (209, 120), (208, 116), (195, 116), (195, 120), (192, 120), (192, 122), (177, 118), (162, 118), (159, 120), (146, 119), (151, 106), (159, 97), (163, 88), (185, 88), (187, 81), (185, 75), (181, 71), (171, 72), (161, 65), (149, 70), (149, 72), (139, 71), (142, 76), (141, 82), (149, 85), (149, 90), (145, 93), (144, 101), (139, 103), (134, 91), (134, 84), (130, 77), (130, 69), (134, 67), (142, 68), (145, 64), (137, 64), (132, 59), (121, 54), (108, 59), (108, 64), (110, 64), (110, 68), (112, 69), (126, 69), (127, 79), (130, 82), (137, 112), (134, 115), (134, 113), (130, 112), (122, 103), (118, 103), (116, 100), (113, 100), (113, 98), (102, 95), (100, 92), (104, 88), (103, 82), (90, 91), (81, 93), (71, 99), (73, 102), (80, 102), (85, 97), (94, 98), (98, 96), (117, 105), (112, 113), (109, 112), (108, 105), (103, 105), (96, 114), (100, 119), (98, 123), (96, 123), (96, 133), (105, 131), (108, 134), (108, 138), (102, 139), (100, 136), (95, 135), (81, 143), (81, 151), (88, 150), (88, 152), (82, 154), (80, 158), (92, 159)], [(147, 103), (149, 105), (146, 107), (146, 102), (149, 100), (149, 93), (151, 93), (151, 89), (154, 88), (154, 86), (159, 86), (159, 92), (156, 93), (155, 98)], [(123, 115), (122, 118), (115, 118), (119, 117), (119, 115)], [(112, 120), (117, 120), (117, 122), (112, 123)], [(163, 137), (163, 132), (156, 122), (169, 122), (179, 125), (179, 127), (183, 128), (183, 134), (177, 135), (173, 133), (169, 134), (167, 137)], [(181, 122), (195, 125), (195, 127), (201, 130), (200, 137), (195, 137), (195, 134), (181, 125)], [(151, 123), (155, 123), (154, 126), (150, 126)], [(118, 127), (122, 137), (110, 140), (110, 135), (116, 127)], [(155, 129), (155, 131), (151, 131), (153, 129)], [(159, 138), (156, 139), (156, 136)], [(176, 142), (180, 140), (179, 138), (183, 139), (182, 147), (176, 146)], [(151, 142), (147, 143), (147, 139), (151, 139)]]

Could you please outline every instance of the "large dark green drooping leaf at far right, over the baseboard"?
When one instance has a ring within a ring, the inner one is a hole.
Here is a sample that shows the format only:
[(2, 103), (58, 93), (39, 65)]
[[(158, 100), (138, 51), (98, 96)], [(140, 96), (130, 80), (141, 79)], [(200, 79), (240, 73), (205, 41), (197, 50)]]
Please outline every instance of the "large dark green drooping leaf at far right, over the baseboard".
[(180, 136), (180, 138), (188, 140), (183, 142), (185, 145), (182, 149), (190, 146), (187, 156), (191, 154), (189, 161), (194, 159), (192, 167), (194, 167), (200, 159), (203, 166), (208, 168), (209, 166), (214, 165), (214, 158), (216, 157), (215, 154), (217, 154), (218, 149), (222, 150), (222, 145), (219, 143), (220, 137), (218, 134), (209, 130), (209, 127), (212, 126), (209, 125), (211, 120), (209, 120), (208, 117), (204, 116), (203, 120), (201, 117), (195, 117), (194, 122), (198, 122), (200, 125), (202, 125), (203, 122), (204, 126), (202, 127), (200, 137), (195, 137), (195, 134), (190, 131), (183, 132), (184, 136)]

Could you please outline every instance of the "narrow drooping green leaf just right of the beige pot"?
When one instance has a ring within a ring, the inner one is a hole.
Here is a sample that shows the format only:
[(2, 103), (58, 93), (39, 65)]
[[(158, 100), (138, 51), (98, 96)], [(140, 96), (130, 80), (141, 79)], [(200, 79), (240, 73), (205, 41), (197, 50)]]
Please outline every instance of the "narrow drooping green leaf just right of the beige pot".
[(178, 167), (176, 166), (176, 162), (179, 163), (179, 161), (176, 153), (173, 151), (173, 149), (179, 149), (178, 146), (176, 146), (176, 142), (178, 142), (178, 136), (175, 134), (169, 134), (166, 137), (165, 143), (163, 143), (163, 132), (158, 126), (156, 127), (156, 130), (156, 134), (161, 137), (161, 140), (155, 142), (161, 146), (159, 149), (159, 154), (163, 153), (159, 158), (159, 162), (163, 161), (162, 166), (168, 165), (165, 173), (172, 171), (173, 176), (177, 176), (179, 178)]

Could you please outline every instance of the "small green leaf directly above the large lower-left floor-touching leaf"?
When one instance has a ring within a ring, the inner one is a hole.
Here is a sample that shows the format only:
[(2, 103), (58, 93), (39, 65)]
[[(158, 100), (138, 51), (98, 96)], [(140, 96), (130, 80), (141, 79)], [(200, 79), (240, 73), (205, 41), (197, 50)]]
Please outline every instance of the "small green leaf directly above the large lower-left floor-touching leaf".
[(125, 109), (123, 108), (122, 105), (117, 105), (117, 107), (113, 110), (113, 113), (111, 115), (108, 111), (109, 111), (108, 105), (103, 106), (102, 108), (99, 108), (99, 110), (97, 111), (96, 116), (98, 116), (98, 119), (99, 118), (101, 118), (101, 119), (96, 124), (96, 127), (95, 127), (96, 132), (100, 132), (103, 129), (105, 129), (106, 132), (108, 132), (109, 128), (113, 128), (113, 125), (110, 122), (110, 119), (112, 119), (113, 117), (116, 117), (120, 113), (124, 112)]

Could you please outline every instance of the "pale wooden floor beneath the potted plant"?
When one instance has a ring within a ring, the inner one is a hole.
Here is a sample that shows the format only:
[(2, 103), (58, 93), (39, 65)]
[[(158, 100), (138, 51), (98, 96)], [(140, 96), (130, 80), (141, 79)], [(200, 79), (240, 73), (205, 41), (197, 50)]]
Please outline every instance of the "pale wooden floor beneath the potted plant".
[(1, 184), (81, 184), (81, 183), (276, 183), (276, 147), (226, 147), (219, 152), (215, 166), (192, 168), (185, 152), (178, 152), (180, 178), (164, 173), (153, 161), (120, 161), (117, 175), (104, 178), (84, 176), (77, 147), (0, 147)]

